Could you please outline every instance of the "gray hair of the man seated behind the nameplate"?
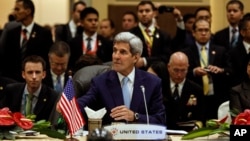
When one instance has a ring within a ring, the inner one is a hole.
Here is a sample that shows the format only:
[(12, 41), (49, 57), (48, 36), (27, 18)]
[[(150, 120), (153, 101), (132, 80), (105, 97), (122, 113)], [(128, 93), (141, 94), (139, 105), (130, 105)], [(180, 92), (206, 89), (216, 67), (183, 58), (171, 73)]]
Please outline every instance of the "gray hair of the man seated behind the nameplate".
[(130, 46), (130, 52), (133, 55), (138, 53), (141, 56), (143, 49), (142, 41), (139, 37), (135, 36), (134, 34), (130, 32), (120, 32), (114, 38), (114, 43), (116, 42), (128, 43)]

